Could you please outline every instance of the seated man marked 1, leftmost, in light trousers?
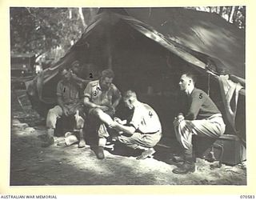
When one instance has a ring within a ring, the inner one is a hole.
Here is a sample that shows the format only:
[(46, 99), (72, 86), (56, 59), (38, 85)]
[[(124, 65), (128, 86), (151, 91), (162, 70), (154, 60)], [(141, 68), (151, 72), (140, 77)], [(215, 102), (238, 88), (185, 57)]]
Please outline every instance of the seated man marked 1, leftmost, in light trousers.
[(60, 74), (62, 75), (62, 80), (57, 85), (58, 105), (49, 110), (46, 118), (49, 145), (54, 143), (54, 130), (57, 119), (62, 118), (62, 116), (72, 116), (76, 122), (76, 129), (79, 132), (80, 142), (78, 147), (82, 148), (86, 145), (82, 130), (85, 116), (82, 98), (79, 97), (78, 82), (72, 78), (70, 70), (63, 68), (60, 70)]

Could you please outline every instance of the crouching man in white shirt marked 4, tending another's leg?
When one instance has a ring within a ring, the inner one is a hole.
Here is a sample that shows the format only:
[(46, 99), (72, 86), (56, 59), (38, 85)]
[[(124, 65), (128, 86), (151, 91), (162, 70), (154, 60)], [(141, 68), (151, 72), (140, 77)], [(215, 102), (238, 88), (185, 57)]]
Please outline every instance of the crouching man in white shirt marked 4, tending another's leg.
[(158, 114), (146, 103), (139, 102), (134, 91), (126, 91), (123, 101), (134, 112), (127, 125), (124, 125), (119, 118), (114, 118), (115, 122), (111, 127), (128, 134), (128, 136), (118, 136), (118, 141), (133, 149), (144, 150), (137, 159), (152, 156), (155, 153), (153, 147), (162, 137), (162, 126)]

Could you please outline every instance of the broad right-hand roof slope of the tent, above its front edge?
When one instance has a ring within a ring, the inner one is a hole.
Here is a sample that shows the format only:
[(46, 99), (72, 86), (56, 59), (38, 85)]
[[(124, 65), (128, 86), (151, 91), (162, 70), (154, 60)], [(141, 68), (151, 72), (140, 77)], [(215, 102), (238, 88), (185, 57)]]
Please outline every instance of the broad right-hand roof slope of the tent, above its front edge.
[(126, 8), (173, 42), (206, 54), (228, 74), (245, 78), (245, 33), (218, 14), (183, 8)]

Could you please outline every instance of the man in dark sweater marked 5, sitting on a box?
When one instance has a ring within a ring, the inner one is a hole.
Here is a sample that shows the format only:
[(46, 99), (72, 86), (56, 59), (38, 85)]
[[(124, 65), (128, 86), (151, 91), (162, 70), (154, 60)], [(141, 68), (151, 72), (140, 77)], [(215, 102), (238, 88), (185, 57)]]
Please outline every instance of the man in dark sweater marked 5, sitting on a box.
[(195, 88), (196, 78), (194, 74), (182, 74), (179, 86), (186, 94), (188, 111), (185, 117), (178, 114), (174, 119), (174, 130), (178, 142), (185, 153), (182, 166), (173, 170), (175, 174), (187, 174), (194, 172), (194, 158), (192, 135), (201, 137), (218, 138), (225, 132), (226, 125), (222, 114), (210, 97), (202, 90)]

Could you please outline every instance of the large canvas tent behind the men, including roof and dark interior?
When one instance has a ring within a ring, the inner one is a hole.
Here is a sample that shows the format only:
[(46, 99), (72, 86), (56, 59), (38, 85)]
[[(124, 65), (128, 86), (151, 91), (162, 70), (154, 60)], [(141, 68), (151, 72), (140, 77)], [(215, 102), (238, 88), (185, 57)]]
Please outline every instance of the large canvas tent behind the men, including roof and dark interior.
[[(55, 103), (58, 69), (78, 60), (90, 78), (111, 68), (114, 83), (123, 91), (134, 89), (158, 111), (164, 130), (170, 130), (178, 102), (178, 78), (183, 71), (198, 74), (205, 90), (225, 113), (218, 78), (245, 89), (245, 34), (217, 14), (183, 8), (103, 8), (66, 55), (27, 82), (38, 111)], [(236, 118), (245, 139), (245, 90), (240, 90)], [(242, 95), (241, 95), (242, 94)], [(45, 109), (44, 109), (45, 110)], [(237, 114), (238, 115), (238, 114)], [(226, 118), (226, 121), (227, 118)]]

